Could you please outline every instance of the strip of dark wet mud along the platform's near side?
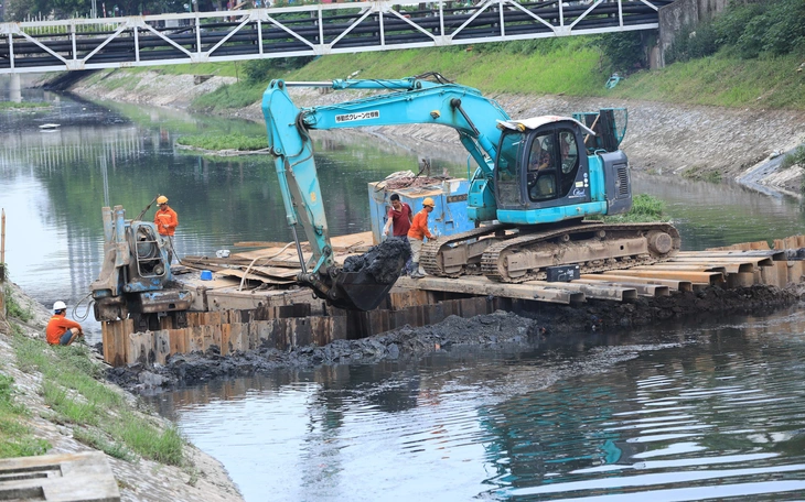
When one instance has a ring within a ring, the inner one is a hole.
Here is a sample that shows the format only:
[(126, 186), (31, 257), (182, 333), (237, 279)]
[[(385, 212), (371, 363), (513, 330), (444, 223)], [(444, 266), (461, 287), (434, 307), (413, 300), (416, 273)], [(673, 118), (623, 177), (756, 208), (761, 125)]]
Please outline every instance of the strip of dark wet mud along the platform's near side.
[(268, 373), (278, 369), (310, 369), (332, 364), (375, 364), (411, 361), (433, 352), (462, 356), (472, 351), (518, 352), (589, 332), (621, 331), (673, 319), (715, 318), (729, 314), (769, 314), (803, 303), (805, 285), (781, 290), (755, 285), (734, 290), (708, 287), (674, 292), (670, 296), (641, 297), (630, 303), (590, 301), (583, 306), (539, 304), (494, 314), (461, 318), (421, 328), (404, 327), (358, 340), (336, 340), (324, 347), (294, 347), (289, 351), (261, 348), (222, 357), (218, 347), (206, 352), (175, 354), (167, 364), (133, 364), (110, 369), (108, 379), (132, 392), (153, 393), (214, 379)]

